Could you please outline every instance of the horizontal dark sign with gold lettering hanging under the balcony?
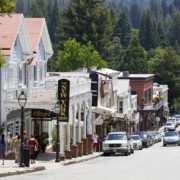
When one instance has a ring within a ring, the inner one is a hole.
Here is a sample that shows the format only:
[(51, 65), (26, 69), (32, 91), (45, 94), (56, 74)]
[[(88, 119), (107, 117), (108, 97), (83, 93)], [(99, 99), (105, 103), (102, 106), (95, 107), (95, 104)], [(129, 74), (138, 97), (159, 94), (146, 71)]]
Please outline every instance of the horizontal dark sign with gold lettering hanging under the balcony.
[(53, 112), (45, 109), (32, 109), (31, 111), (32, 118), (52, 118)]

